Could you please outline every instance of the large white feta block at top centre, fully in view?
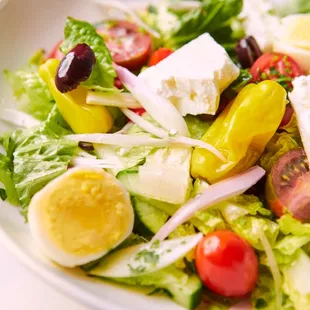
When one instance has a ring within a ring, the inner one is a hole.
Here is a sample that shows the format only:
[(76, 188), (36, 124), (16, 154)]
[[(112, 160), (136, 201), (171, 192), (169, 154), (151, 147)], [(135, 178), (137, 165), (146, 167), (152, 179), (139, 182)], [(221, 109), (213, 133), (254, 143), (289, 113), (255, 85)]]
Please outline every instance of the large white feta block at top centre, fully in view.
[(221, 92), (238, 75), (225, 49), (205, 33), (139, 77), (185, 116), (215, 114)]

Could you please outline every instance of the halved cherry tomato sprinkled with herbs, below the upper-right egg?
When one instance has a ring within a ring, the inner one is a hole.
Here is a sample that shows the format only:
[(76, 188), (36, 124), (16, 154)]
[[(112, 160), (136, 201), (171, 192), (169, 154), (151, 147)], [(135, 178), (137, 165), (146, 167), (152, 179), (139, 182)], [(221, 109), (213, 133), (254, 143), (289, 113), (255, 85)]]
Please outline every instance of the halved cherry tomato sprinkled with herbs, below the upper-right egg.
[(292, 79), (303, 75), (302, 69), (290, 56), (281, 53), (267, 53), (260, 56), (251, 70), (252, 82), (274, 80), (286, 90), (293, 89)]

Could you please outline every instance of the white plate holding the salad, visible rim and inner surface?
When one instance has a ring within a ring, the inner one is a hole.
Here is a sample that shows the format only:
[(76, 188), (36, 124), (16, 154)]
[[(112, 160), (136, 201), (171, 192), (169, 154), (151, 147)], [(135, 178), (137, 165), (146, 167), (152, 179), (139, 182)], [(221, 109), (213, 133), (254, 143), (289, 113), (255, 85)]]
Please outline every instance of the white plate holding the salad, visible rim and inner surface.
[[(6, 2), (0, 0), (0, 3), (2, 1)], [(0, 11), (0, 72), (5, 68), (19, 68), (37, 48), (49, 50), (61, 39), (66, 16), (98, 21), (102, 14), (100, 7), (87, 0), (9, 0)], [(12, 105), (11, 91), (2, 74), (1, 102), (0, 108)], [(0, 125), (0, 131), (5, 130), (7, 127)], [(68, 271), (52, 264), (37, 249), (19, 209), (3, 202), (0, 206), (0, 242), (47, 283), (91, 308), (183, 309), (168, 298), (146, 296), (145, 291), (87, 278), (79, 270)]]

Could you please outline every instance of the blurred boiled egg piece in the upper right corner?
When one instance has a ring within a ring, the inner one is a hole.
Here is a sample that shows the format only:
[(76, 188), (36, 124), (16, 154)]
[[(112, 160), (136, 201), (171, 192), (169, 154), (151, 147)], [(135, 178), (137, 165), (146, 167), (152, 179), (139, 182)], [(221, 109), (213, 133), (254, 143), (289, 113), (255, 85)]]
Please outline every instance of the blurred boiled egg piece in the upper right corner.
[(310, 72), (310, 14), (289, 15), (281, 19), (275, 30), (273, 50), (291, 56), (306, 72)]

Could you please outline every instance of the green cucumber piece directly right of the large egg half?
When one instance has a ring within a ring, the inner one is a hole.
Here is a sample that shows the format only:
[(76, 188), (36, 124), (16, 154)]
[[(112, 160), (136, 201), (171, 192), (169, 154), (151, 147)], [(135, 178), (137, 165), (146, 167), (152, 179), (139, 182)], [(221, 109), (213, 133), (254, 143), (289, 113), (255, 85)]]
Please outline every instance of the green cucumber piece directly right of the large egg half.
[(135, 230), (143, 236), (152, 236), (167, 222), (169, 215), (138, 197), (132, 198), (135, 210)]

